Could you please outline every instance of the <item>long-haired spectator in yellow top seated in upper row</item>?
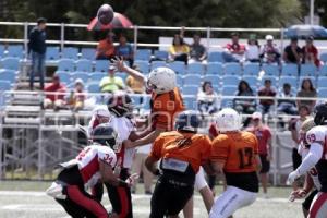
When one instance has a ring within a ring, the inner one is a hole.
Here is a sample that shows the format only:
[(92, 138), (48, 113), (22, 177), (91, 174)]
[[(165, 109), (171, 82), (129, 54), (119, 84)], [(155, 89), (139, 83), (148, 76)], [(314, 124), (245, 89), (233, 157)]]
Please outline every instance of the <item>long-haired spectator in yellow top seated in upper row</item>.
[(184, 43), (181, 35), (175, 34), (172, 45), (169, 48), (169, 59), (171, 61), (183, 61), (187, 64), (190, 47)]

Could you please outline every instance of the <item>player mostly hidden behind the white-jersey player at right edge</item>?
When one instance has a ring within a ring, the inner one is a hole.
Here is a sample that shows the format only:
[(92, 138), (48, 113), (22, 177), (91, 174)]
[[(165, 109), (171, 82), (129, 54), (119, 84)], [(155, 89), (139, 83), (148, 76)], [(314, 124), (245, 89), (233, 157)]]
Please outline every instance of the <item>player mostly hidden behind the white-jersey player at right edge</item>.
[[(301, 129), (300, 129), (301, 142), (300, 142), (300, 146), (299, 146), (299, 154), (301, 155), (302, 159), (305, 158), (305, 156), (307, 155), (308, 149), (310, 149), (310, 144), (306, 142), (305, 135), (316, 124), (315, 124), (313, 118), (306, 119), (301, 125)], [(298, 199), (298, 198), (306, 197), (304, 199), (304, 202), (302, 203), (302, 210), (303, 210), (304, 217), (307, 217), (311, 204), (320, 187), (322, 187), (322, 184), (318, 179), (317, 170), (314, 167), (306, 173), (303, 187), (299, 189), (296, 191), (293, 191), (291, 193), (291, 195), (290, 195), (291, 202), (293, 202), (294, 199)]]

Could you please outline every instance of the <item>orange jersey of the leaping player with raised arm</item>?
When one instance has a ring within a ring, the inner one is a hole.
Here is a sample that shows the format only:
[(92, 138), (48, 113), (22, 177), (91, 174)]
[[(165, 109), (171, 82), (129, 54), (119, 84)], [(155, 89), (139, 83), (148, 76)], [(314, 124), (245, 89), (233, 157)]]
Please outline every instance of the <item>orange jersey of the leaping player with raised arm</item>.
[(185, 110), (183, 98), (178, 88), (169, 93), (153, 94), (152, 96), (153, 128), (173, 130), (175, 116)]

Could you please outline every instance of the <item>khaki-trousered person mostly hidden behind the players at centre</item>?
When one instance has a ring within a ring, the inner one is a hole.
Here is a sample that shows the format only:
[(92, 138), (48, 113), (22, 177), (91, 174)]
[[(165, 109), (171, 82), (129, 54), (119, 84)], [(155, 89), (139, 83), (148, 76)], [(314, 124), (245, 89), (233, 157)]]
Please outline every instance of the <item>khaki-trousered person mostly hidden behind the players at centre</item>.
[[(150, 153), (150, 149), (152, 149), (152, 144), (137, 147), (133, 159), (133, 166), (132, 166), (133, 173), (141, 174), (142, 172), (143, 183), (144, 183), (144, 194), (146, 195), (153, 194), (152, 184), (153, 184), (154, 174), (150, 171), (148, 171), (148, 169), (145, 167), (145, 159)], [(136, 184), (137, 183), (135, 183), (135, 185), (133, 185), (132, 187), (132, 193), (134, 194), (136, 193)]]

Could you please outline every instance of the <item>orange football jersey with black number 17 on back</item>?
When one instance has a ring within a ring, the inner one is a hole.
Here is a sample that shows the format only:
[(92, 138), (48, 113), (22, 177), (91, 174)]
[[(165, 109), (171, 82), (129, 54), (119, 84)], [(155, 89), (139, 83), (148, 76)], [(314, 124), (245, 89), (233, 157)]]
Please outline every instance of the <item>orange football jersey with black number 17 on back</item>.
[(225, 162), (225, 172), (256, 171), (258, 142), (250, 132), (219, 134), (213, 142), (211, 159)]

